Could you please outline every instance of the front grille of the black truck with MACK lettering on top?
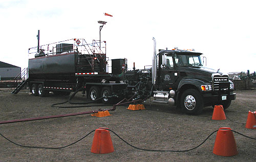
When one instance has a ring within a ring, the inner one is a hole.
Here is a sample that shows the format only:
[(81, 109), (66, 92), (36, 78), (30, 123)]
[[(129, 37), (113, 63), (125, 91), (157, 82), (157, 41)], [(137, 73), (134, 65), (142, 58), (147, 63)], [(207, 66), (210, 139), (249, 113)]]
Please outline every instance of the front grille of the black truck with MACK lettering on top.
[(213, 83), (213, 90), (218, 91), (221, 90), (228, 90), (229, 88), (229, 81), (227, 75), (213, 75), (212, 76), (212, 83)]

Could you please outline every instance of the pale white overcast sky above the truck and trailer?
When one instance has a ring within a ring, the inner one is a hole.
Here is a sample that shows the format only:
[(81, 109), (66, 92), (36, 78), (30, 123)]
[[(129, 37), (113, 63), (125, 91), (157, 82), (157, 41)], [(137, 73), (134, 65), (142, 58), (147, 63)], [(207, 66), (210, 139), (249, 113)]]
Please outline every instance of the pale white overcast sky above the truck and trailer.
[[(104, 16), (103, 13), (113, 15)], [(152, 64), (158, 49), (195, 49), (207, 67), (221, 72), (256, 71), (254, 1), (32, 1), (0, 0), (0, 61), (25, 68), (28, 49), (72, 38), (99, 40), (98, 20), (110, 59), (128, 67)]]

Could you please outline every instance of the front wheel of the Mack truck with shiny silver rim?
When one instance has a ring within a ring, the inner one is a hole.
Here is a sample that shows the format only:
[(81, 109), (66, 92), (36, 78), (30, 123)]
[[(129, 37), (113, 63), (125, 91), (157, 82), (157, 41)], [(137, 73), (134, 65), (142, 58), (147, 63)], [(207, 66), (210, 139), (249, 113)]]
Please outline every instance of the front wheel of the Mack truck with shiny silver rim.
[(188, 114), (200, 114), (203, 110), (203, 98), (198, 90), (187, 89), (180, 98), (181, 110)]

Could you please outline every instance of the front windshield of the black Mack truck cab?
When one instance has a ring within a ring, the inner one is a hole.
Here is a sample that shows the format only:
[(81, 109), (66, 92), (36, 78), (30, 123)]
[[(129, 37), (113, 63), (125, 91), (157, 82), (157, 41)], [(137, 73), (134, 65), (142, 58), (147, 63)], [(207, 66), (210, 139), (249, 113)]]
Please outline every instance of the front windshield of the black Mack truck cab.
[(203, 66), (200, 56), (193, 55), (175, 55), (175, 63), (177, 66)]

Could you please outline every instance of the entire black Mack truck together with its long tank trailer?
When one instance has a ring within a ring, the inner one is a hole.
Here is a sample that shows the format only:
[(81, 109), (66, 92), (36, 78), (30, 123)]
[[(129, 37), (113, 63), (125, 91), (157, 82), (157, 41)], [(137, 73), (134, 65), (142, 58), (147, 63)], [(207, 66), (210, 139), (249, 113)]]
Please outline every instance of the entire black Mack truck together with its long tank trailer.
[(41, 49), (29, 59), (26, 82), (33, 96), (48, 96), (50, 91), (69, 95), (81, 90), (90, 100), (102, 97), (108, 104), (123, 98), (145, 101), (152, 97), (153, 102), (176, 105), (189, 114), (199, 114), (204, 106), (217, 104), (226, 109), (236, 99), (228, 75), (203, 66), (202, 53), (173, 49), (156, 54), (153, 40), (151, 68), (127, 71), (126, 59), (112, 59), (111, 74), (109, 60), (97, 41), (88, 44), (84, 39), (78, 43), (74, 39), (73, 44), (56, 44), (50, 53)]

